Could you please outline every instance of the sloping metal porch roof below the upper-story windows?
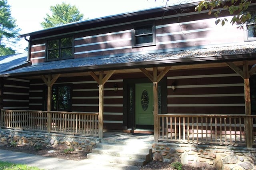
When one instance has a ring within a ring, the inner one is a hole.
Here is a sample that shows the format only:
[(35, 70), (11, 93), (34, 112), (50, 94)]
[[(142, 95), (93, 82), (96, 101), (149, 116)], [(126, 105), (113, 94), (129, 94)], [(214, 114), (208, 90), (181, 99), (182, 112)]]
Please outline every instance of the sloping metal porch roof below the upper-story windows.
[[(50, 61), (9, 71), (1, 70), (1, 77), (220, 63), (255, 59), (256, 46), (251, 42), (243, 45), (229, 44), (229, 46), (224, 47), (208, 47), (203, 49), (176, 49), (176, 51), (162, 49), (158, 52), (151, 51), (151, 53), (128, 53)], [(12, 64), (10, 63), (9, 65)]]

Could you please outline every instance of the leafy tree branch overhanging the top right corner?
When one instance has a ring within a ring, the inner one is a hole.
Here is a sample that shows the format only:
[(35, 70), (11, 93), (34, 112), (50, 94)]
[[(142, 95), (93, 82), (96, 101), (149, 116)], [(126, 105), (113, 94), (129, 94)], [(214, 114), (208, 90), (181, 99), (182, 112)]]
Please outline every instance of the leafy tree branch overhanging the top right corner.
[[(234, 15), (230, 23), (237, 24), (238, 28), (243, 28), (246, 22), (256, 23), (255, 16), (252, 16), (251, 13), (247, 11), (250, 3), (250, 0), (203, 0), (196, 7), (196, 11), (208, 10), (208, 15), (214, 14), (214, 16), (218, 18), (222, 10), (221, 8), (227, 9), (231, 15)], [(214, 8), (218, 9), (213, 13)], [(215, 24), (221, 23), (221, 25), (224, 26), (225, 22), (228, 22), (226, 18), (217, 19)]]

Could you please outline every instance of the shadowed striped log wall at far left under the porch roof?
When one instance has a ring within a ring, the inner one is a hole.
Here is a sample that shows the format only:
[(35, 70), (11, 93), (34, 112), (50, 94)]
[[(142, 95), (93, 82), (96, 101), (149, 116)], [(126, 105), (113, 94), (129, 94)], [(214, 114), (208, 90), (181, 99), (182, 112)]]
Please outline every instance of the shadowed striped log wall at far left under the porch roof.
[(3, 79), (1, 83), (1, 109), (28, 109), (29, 80), (10, 78)]

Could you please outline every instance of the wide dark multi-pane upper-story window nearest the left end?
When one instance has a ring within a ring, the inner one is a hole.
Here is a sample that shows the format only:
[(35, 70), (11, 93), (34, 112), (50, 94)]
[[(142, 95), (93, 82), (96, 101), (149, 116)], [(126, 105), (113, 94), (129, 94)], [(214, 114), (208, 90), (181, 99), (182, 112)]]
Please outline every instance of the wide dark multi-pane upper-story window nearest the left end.
[(47, 61), (73, 58), (73, 37), (47, 41)]

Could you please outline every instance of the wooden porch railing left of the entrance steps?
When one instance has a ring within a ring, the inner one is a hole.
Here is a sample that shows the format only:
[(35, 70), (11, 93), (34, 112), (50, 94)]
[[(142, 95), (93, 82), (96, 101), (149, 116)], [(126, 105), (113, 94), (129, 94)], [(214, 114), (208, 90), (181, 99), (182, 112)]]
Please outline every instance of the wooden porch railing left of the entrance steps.
[(2, 109), (1, 127), (98, 136), (98, 113)]

